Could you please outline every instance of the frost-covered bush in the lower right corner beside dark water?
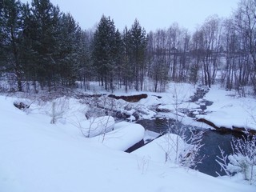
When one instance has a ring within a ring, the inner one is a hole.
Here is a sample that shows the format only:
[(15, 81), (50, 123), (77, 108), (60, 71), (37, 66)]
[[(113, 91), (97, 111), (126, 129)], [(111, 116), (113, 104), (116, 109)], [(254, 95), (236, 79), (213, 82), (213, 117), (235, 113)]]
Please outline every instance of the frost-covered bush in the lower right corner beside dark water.
[(221, 157), (216, 161), (227, 175), (242, 174), (250, 184), (256, 182), (256, 136), (233, 139), (231, 142), (233, 153), (225, 155), (221, 150)]

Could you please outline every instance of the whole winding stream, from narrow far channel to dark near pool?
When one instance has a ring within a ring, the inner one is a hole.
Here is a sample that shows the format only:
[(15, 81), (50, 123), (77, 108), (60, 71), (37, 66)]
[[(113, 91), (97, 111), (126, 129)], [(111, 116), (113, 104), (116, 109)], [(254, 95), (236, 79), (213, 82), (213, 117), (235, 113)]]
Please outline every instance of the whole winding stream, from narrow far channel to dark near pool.
[[(213, 104), (213, 102), (203, 99), (204, 95), (209, 91), (209, 88), (206, 86), (198, 86), (198, 89), (194, 96), (190, 97), (189, 102), (197, 102), (200, 109), (198, 109), (199, 114), (206, 114), (205, 110), (207, 106)], [(194, 111), (190, 111), (186, 114), (190, 118), (195, 118)], [(174, 120), (169, 120), (169, 122)], [(166, 133), (168, 130), (168, 122), (166, 119), (156, 118), (154, 120), (141, 120), (137, 122), (144, 126), (146, 130), (151, 130), (156, 133), (162, 134)], [(189, 126), (182, 125), (181, 122), (178, 123), (178, 128), (188, 128)], [(201, 130), (198, 127), (194, 127), (193, 131)], [(199, 151), (199, 159), (202, 157), (202, 163), (198, 164), (196, 170), (209, 174), (211, 176), (217, 177), (218, 174), (225, 175), (224, 171), (221, 171), (221, 167), (216, 162), (217, 157), (221, 157), (221, 152), (219, 147), (226, 152), (226, 154), (232, 153), (231, 142), (233, 138), (241, 138), (242, 135), (234, 132), (221, 132), (218, 130), (203, 130), (202, 136), (202, 148)], [(172, 130), (170, 130), (172, 132)], [(173, 132), (174, 133), (174, 132)], [(176, 134), (176, 133), (174, 133)], [(190, 131), (186, 131), (185, 134), (190, 134)], [(217, 174), (218, 172), (218, 174)]]

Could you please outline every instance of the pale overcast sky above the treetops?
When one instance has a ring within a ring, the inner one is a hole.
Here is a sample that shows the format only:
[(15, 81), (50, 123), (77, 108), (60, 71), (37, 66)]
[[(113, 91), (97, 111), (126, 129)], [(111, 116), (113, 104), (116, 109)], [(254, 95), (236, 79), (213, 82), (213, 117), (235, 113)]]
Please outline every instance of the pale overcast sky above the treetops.
[[(22, 0), (26, 2), (27, 0)], [(31, 2), (31, 0), (28, 0)], [(168, 28), (173, 22), (193, 31), (213, 14), (229, 17), (239, 0), (50, 0), (60, 10), (73, 15), (82, 29), (90, 29), (102, 14), (114, 19), (115, 26), (130, 28), (138, 18), (141, 26), (150, 30)]]

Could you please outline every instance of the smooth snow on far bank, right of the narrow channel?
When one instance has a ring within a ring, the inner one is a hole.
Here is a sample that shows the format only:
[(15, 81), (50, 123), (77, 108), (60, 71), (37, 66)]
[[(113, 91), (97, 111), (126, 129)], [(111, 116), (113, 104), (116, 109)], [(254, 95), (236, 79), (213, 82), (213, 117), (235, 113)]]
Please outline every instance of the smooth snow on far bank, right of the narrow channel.
[(205, 99), (214, 103), (207, 106), (206, 115), (197, 115), (197, 118), (205, 118), (218, 127), (232, 129), (235, 126), (256, 130), (255, 98), (240, 98), (234, 91), (213, 86)]

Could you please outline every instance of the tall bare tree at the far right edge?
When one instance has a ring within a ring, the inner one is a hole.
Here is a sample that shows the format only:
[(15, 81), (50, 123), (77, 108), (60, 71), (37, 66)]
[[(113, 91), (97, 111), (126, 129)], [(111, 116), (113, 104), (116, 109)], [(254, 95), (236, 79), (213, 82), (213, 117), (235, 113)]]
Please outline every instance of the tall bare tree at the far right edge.
[(256, 2), (254, 0), (240, 1), (234, 14), (234, 25), (239, 37), (241, 52), (241, 67), (239, 67), (238, 89), (241, 86), (252, 85), (256, 94)]

